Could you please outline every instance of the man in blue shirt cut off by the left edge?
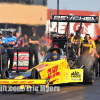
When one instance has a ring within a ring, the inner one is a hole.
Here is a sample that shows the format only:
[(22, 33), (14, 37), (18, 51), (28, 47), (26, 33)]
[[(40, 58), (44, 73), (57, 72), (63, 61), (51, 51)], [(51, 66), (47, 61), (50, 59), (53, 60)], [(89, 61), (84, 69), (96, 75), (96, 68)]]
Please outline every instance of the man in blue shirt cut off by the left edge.
[(6, 50), (6, 48), (9, 45), (8, 45), (7, 39), (2, 36), (3, 36), (3, 33), (0, 31), (0, 74), (1, 74), (1, 67), (2, 67), (2, 69), (8, 67), (7, 66), (7, 53), (6, 53), (7, 50)]

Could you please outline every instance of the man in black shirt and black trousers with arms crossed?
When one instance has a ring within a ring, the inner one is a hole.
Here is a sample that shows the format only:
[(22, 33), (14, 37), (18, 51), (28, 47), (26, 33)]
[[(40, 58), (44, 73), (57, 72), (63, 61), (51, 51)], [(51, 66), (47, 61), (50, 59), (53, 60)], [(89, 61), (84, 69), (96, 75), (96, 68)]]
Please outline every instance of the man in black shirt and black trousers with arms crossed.
[(38, 65), (38, 45), (39, 45), (39, 37), (36, 35), (35, 31), (33, 31), (33, 36), (29, 37), (29, 69), (33, 67), (33, 54), (35, 55), (35, 64)]

